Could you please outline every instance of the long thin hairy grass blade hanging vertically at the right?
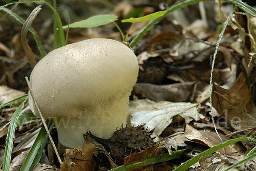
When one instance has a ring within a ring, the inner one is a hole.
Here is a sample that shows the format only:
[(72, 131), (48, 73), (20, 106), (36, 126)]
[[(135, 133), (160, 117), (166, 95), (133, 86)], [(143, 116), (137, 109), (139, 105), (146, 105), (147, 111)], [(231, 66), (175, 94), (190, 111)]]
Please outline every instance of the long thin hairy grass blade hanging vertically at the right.
[[(233, 10), (230, 12), (230, 14), (228, 15), (227, 17), (227, 20), (225, 21), (224, 23), (224, 26), (222, 28), (222, 31), (221, 31), (221, 34), (219, 35), (219, 38), (218, 38), (218, 42), (216, 43), (216, 48), (215, 48), (215, 51), (214, 51), (214, 54), (213, 54), (213, 59), (212, 59), (212, 69), (211, 69), (211, 77), (210, 77), (210, 108), (211, 108), (211, 115), (213, 113), (213, 107), (212, 107), (212, 86), (213, 86), (213, 69), (214, 69), (214, 63), (215, 63), (215, 60), (216, 60), (216, 55), (217, 55), (217, 52), (218, 52), (218, 49), (219, 49), (219, 45), (221, 43), (221, 38), (223, 37), (223, 34), (227, 28), (227, 24), (231, 18), (231, 16), (233, 15), (234, 11), (236, 9), (236, 6), (233, 7)], [(214, 126), (214, 129), (218, 135), (218, 137), (221, 139), (221, 136), (218, 134), (218, 131), (217, 131), (217, 128), (216, 128), (216, 125), (215, 125), (215, 122), (214, 122), (214, 118), (212, 116), (212, 123), (213, 123), (213, 126)], [(221, 139), (221, 141), (223, 142), (223, 140)]]

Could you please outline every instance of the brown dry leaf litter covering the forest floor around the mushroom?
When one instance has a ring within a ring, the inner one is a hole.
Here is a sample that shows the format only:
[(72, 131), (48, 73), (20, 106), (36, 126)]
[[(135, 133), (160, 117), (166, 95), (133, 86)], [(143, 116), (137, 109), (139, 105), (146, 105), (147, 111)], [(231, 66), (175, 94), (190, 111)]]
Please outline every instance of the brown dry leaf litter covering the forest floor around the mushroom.
[[(138, 126), (143, 123), (145, 129), (153, 131), (151, 137), (156, 144), (141, 152), (128, 155), (124, 158), (124, 164), (161, 153), (171, 154), (172, 151), (189, 148), (180, 158), (185, 162), (184, 158), (193, 157), (193, 152), (199, 153), (204, 148), (207, 149), (221, 143), (211, 123), (208, 103), (211, 55), (218, 40), (217, 25), (220, 24), (219, 21), (225, 22), (227, 19), (227, 12), (223, 11), (224, 8), (222, 8), (224, 5), (219, 2), (216, 4), (216, 7), (219, 8), (214, 11), (212, 8), (215, 6), (214, 2), (204, 3), (204, 8), (207, 11), (212, 11), (208, 13), (213, 14), (207, 13), (207, 23), (198, 17), (198, 6), (185, 7), (183, 10), (175, 11), (174, 14), (170, 14), (148, 31), (134, 47), (140, 71), (138, 83), (134, 87), (130, 101), (131, 125)], [(64, 5), (68, 4), (64, 3)], [(152, 4), (153, 9), (159, 9), (158, 5)], [(93, 11), (99, 11), (95, 10), (99, 7), (94, 6), (94, 4), (89, 4), (89, 6), (91, 14)], [(128, 12), (125, 12), (123, 5), (116, 6), (120, 9), (115, 9), (115, 11), (119, 11), (121, 17), (124, 17), (122, 14), (127, 15), (136, 8), (133, 1), (125, 6), (129, 7)], [(18, 6), (17, 8), (22, 7)], [(195, 14), (188, 13), (187, 10), (195, 11)], [(217, 14), (219, 21), (215, 14)], [(63, 15), (65, 16), (65, 14)], [(177, 17), (181, 15), (185, 16), (183, 21)], [(43, 16), (42, 18), (44, 22), (48, 20), (44, 19)], [(254, 17), (242, 15), (237, 10), (229, 22), (228, 29), (221, 41), (220, 51), (217, 54), (214, 70), (215, 85), (212, 94), (213, 107), (215, 108), (213, 116), (219, 134), (224, 141), (230, 140), (227, 135), (236, 131), (241, 132), (232, 135), (231, 138), (255, 137), (255, 129), (242, 131), (256, 125), (255, 20)], [(4, 23), (4, 20), (2, 22)], [(41, 21), (35, 20), (35, 22), (40, 23)], [(10, 22), (9, 26), (12, 23), (15, 22)], [(47, 25), (47, 23), (44, 24)], [(132, 33), (136, 34), (144, 25), (134, 26)], [(7, 26), (6, 29), (10, 30)], [(212, 29), (212, 26), (216, 29)], [(70, 29), (69, 43), (91, 37), (120, 40), (119, 34), (113, 31), (113, 28), (114, 26), (106, 25), (95, 29)], [(47, 28), (42, 29), (44, 29), (41, 31), (42, 33), (51, 32), (46, 31)], [(19, 39), (15, 39), (15, 36), (19, 37), (20, 30), (18, 28), (15, 30), (17, 31), (11, 31), (11, 35), (9, 35), (13, 37), (12, 41), (3, 38), (0, 42), (1, 45), (6, 46), (0, 51), (1, 56), (3, 56), (0, 58), (0, 67), (3, 68), (3, 72), (0, 72), (0, 76), (3, 78), (1, 84), (24, 91), (23, 88), (26, 88), (26, 84), (22, 80), (22, 75), (29, 73), (29, 69), (25, 67), (27, 63), (20, 60), (24, 54), (17, 46)], [(47, 41), (48, 34), (43, 34), (41, 37), (47, 44), (47, 50), (51, 51), (49, 48), (52, 47), (51, 41)], [(32, 40), (32, 37), (28, 37), (28, 39)], [(35, 49), (33, 50), (35, 51)], [(36, 54), (36, 52), (34, 53)], [(10, 60), (11, 58), (13, 60)], [(17, 63), (19, 66), (13, 69), (11, 64), (17, 65)], [(18, 74), (20, 77), (17, 77)], [(1, 86), (1, 88), (7, 87)], [(23, 91), (16, 92), (14, 90), (13, 93), (22, 95), (24, 94)], [(8, 90), (0, 89), (0, 93), (4, 94), (1, 95), (1, 99), (3, 99), (1, 104), (5, 103), (6, 99), (12, 100), (20, 96), (16, 94), (14, 97), (11, 96), (13, 93), (7, 92), (9, 92), (9, 88)], [(13, 104), (10, 108), (1, 109), (1, 149), (4, 149), (8, 123), (15, 111), (15, 106), (17, 105)], [(14, 141), (16, 151), (13, 155), (17, 158), (12, 160), (12, 167), (15, 168), (16, 165), (22, 164), (23, 157), (31, 146), (27, 142), (32, 141), (29, 138), (33, 137), (32, 135), (36, 134), (38, 129), (36, 125), (38, 124), (32, 121), (30, 127), (23, 127), (15, 132), (17, 140)], [(52, 134), (57, 141), (56, 131), (53, 131)], [(202, 148), (198, 150), (197, 147)], [(191, 166), (191, 169), (223, 170), (242, 160), (252, 147), (253, 145), (249, 142), (227, 146), (215, 154), (201, 157), (196, 165)], [(105, 151), (104, 147), (93, 144), (67, 149), (64, 154), (64, 162), (60, 167), (58, 165), (55, 167), (60, 168), (60, 170), (98, 170), (99, 168), (107, 170), (117, 167), (114, 157), (108, 152)], [(50, 149), (45, 154), (48, 158), (47, 154), (51, 154)], [(55, 158), (53, 163), (56, 161)], [(173, 166), (179, 165), (180, 162), (171, 160), (171, 162), (143, 166), (143, 168), (138, 169), (166, 168), (172, 170)], [(38, 170), (53, 167), (49, 166), (49, 163), (42, 162), (36, 167)], [(246, 163), (245, 169), (253, 170), (255, 165), (255, 160), (251, 160)]]

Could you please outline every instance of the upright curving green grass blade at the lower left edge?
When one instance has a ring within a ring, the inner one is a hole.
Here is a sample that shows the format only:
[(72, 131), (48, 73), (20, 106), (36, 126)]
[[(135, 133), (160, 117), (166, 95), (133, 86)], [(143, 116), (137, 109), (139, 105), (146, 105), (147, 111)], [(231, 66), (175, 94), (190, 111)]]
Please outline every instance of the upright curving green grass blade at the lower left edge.
[(24, 100), (19, 105), (17, 110), (14, 112), (14, 114), (12, 116), (12, 120), (11, 120), (10, 125), (8, 127), (8, 132), (7, 132), (7, 136), (6, 136), (6, 147), (5, 147), (4, 158), (3, 158), (3, 171), (9, 171), (9, 169), (10, 169), (15, 128), (16, 128), (16, 125), (17, 125), (17, 120), (18, 120), (19, 115), (20, 115), (21, 108), (23, 108), (23, 105), (24, 105), (25, 102), (26, 102), (26, 100)]

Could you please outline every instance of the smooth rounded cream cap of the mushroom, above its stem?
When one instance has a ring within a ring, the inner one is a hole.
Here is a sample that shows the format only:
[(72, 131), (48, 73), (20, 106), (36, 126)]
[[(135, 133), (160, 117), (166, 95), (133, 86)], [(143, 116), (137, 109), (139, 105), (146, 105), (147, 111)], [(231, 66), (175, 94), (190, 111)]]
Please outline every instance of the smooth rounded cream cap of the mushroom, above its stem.
[[(33, 69), (30, 84), (45, 118), (74, 118), (129, 96), (138, 71), (130, 48), (116, 40), (94, 38), (49, 52)], [(30, 93), (29, 105), (39, 117)]]

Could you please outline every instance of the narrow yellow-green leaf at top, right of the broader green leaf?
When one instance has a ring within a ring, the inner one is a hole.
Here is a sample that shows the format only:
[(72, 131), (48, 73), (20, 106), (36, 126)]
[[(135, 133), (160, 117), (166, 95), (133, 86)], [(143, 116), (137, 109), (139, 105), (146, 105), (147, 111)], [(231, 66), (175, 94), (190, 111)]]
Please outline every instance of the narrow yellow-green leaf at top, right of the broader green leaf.
[(129, 18), (129, 19), (125, 19), (125, 20), (121, 20), (122, 23), (137, 23), (137, 22), (141, 22), (141, 21), (149, 21), (149, 20), (154, 20), (158, 17), (163, 16), (167, 11), (158, 11), (158, 12), (154, 12), (152, 14), (148, 14), (145, 15), (143, 17), (138, 17), (138, 18)]

